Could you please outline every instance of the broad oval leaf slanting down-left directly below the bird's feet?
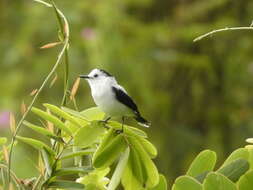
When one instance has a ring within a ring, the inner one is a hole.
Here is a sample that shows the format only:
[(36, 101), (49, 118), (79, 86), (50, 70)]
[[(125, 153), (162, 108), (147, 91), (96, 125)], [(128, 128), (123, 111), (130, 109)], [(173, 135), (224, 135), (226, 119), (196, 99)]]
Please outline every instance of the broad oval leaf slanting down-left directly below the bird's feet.
[(106, 168), (111, 165), (127, 147), (123, 134), (117, 135), (112, 141), (99, 153), (93, 157), (95, 168)]

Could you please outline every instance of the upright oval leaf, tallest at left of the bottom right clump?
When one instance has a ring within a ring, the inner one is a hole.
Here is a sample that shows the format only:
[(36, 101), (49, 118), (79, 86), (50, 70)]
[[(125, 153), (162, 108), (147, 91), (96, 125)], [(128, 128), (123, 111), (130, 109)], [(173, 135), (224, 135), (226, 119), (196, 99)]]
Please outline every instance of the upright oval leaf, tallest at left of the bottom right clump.
[(204, 150), (193, 160), (186, 175), (196, 177), (206, 171), (212, 171), (216, 163), (216, 153), (210, 150)]

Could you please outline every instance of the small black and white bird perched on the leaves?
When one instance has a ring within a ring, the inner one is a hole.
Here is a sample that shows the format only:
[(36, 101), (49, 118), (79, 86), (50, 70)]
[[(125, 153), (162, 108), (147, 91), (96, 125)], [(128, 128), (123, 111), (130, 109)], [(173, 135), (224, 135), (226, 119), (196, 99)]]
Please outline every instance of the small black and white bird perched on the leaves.
[(93, 69), (88, 75), (80, 75), (80, 78), (88, 81), (94, 102), (109, 116), (108, 120), (115, 116), (122, 117), (124, 125), (125, 117), (133, 117), (140, 125), (150, 126), (141, 116), (133, 99), (111, 74), (102, 69)]

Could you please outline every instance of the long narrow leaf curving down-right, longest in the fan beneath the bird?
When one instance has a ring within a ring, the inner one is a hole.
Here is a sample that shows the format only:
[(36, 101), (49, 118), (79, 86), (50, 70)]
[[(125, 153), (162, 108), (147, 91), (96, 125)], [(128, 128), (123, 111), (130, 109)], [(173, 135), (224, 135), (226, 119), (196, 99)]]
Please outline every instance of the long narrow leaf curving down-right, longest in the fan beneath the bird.
[(133, 137), (128, 137), (128, 141), (130, 141), (131, 146), (138, 152), (141, 163), (145, 168), (147, 174), (147, 181), (145, 183), (145, 186), (148, 188), (156, 186), (159, 182), (159, 174), (155, 164), (152, 162), (149, 155), (138, 140)]

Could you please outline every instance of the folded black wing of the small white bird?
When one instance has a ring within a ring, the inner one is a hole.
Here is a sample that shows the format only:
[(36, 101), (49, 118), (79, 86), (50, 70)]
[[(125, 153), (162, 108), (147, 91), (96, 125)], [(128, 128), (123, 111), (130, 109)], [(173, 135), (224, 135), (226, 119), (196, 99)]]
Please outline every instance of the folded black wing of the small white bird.
[(132, 109), (135, 113), (139, 113), (137, 105), (134, 103), (132, 98), (128, 96), (123, 90), (114, 86), (112, 87), (112, 90), (114, 91), (116, 98), (119, 102)]

